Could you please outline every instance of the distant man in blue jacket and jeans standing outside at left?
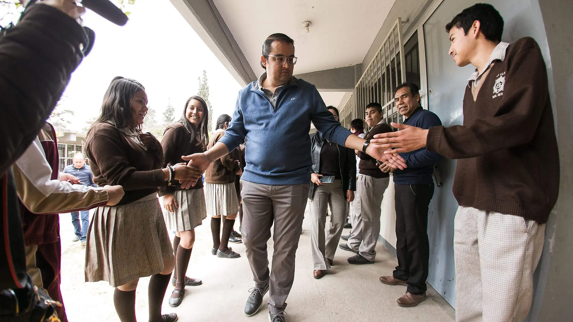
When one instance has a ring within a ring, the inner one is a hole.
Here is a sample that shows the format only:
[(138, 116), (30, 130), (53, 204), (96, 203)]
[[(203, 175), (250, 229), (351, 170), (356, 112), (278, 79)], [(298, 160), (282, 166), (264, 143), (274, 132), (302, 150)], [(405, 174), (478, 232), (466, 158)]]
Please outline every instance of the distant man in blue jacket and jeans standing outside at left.
[[(93, 183), (92, 169), (85, 164), (85, 156), (81, 153), (76, 153), (73, 156), (73, 164), (66, 166), (63, 173), (69, 173), (76, 176), (80, 180), (80, 183), (84, 186), (97, 187), (97, 184)], [(80, 225), (80, 213), (81, 213), (81, 225)], [(72, 225), (74, 226), (76, 237), (73, 241), (81, 241), (81, 247), (85, 247), (85, 235), (88, 234), (89, 226), (89, 210), (74, 211), (72, 214)]]

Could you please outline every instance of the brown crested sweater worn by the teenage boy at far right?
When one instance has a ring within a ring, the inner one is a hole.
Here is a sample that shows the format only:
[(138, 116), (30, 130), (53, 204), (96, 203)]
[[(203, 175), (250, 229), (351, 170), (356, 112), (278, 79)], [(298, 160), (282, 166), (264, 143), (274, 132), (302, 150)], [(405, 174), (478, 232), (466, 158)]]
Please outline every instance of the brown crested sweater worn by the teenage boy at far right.
[(453, 192), (460, 206), (547, 222), (559, 191), (559, 155), (547, 72), (539, 46), (525, 37), (495, 61), (464, 125), (431, 127), (427, 149), (458, 160)]

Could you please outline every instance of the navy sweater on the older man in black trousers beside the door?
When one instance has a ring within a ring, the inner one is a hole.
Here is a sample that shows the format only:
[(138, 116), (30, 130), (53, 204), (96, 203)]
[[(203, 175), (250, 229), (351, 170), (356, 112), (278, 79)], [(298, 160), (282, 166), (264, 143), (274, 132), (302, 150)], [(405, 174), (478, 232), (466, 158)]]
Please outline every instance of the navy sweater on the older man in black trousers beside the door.
[[(433, 112), (418, 107), (412, 115), (404, 120), (404, 124), (412, 125), (423, 129), (442, 125), (442, 121)], [(427, 184), (432, 183), (431, 174), (435, 163), (442, 159), (436, 152), (426, 150), (426, 147), (415, 151), (399, 153), (406, 166), (404, 170), (394, 170), (395, 184)]]

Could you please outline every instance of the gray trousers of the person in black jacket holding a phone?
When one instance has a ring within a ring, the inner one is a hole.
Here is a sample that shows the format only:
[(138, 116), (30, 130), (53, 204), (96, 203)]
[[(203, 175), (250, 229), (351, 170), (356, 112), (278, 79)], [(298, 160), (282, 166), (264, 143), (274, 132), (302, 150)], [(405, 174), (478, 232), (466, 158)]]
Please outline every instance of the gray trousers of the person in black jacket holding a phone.
[[(334, 258), (334, 253), (344, 229), (344, 219), (347, 213), (346, 194), (342, 189), (342, 180), (333, 183), (323, 183), (315, 187), (315, 195), (311, 200), (311, 248), (313, 269), (329, 269), (325, 260)], [(328, 237), (324, 238), (327, 206), (330, 206), (330, 229)]]

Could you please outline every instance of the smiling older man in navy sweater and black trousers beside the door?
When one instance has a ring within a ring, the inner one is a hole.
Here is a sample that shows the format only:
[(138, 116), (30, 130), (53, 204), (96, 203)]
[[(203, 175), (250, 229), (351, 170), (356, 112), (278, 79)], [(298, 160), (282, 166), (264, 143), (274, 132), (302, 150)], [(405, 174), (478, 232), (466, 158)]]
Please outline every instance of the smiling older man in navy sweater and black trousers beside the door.
[[(423, 129), (440, 126), (434, 113), (420, 105), (418, 87), (412, 83), (399, 85), (394, 95), (398, 112), (405, 117), (403, 124)], [(398, 266), (393, 276), (381, 276), (388, 285), (407, 285), (406, 294), (397, 300), (402, 307), (414, 307), (426, 299), (426, 278), (430, 258), (427, 235), (428, 206), (434, 195), (432, 172), (434, 163), (442, 156), (436, 152), (418, 150), (401, 153), (408, 166), (404, 170), (382, 164), (384, 172), (394, 173), (394, 199), (396, 207), (396, 253)]]

